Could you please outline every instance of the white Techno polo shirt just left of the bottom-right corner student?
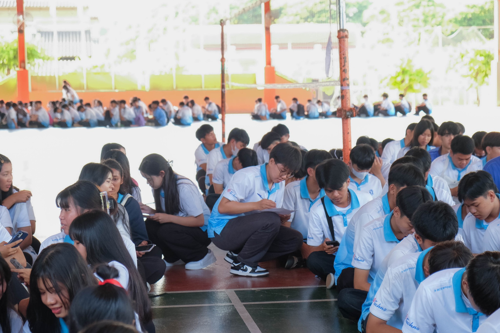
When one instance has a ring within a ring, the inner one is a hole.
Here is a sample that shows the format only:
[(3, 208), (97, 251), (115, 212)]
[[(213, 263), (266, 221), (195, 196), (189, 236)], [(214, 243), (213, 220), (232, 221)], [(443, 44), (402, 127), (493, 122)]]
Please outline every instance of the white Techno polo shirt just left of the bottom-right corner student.
[(366, 299), (371, 303), (367, 306), (363, 304), (361, 311), (363, 319), (369, 312), (372, 316), (387, 322), (387, 325), (398, 330), (402, 328), (413, 296), (425, 279), (423, 259), (430, 249), (432, 248), (407, 254), (390, 265), (379, 288), (372, 290), (370, 287)]

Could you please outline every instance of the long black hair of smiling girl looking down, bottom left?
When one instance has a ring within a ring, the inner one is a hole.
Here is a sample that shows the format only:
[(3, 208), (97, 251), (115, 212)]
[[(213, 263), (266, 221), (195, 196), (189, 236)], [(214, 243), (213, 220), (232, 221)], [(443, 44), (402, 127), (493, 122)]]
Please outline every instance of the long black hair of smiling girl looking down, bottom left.
[[(29, 304), (26, 319), (32, 333), (59, 333), (59, 320), (41, 301), (38, 280), (47, 288), (50, 282), (64, 307), (69, 305), (74, 296), (83, 288), (97, 284), (95, 277), (74, 246), (68, 243), (57, 243), (47, 246), (36, 258), (29, 277)], [(68, 299), (62, 296), (62, 289), (67, 290)], [(48, 288), (47, 288), (48, 289)]]

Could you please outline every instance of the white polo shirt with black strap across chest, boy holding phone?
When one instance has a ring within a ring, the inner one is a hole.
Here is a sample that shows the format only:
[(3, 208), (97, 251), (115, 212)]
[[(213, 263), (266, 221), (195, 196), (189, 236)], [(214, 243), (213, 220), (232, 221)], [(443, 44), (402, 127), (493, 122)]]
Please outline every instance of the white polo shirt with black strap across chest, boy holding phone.
[[(347, 207), (337, 207), (327, 196), (324, 197), (326, 212), (328, 213), (328, 216), (331, 217), (333, 223), (333, 231), (335, 233), (334, 239), (338, 242), (341, 242), (342, 236), (352, 216), (354, 216), (359, 208), (371, 200), (371, 196), (368, 193), (352, 189), (348, 189), (348, 191), (350, 193), (351, 201)], [(333, 240), (328, 227), (328, 221), (326, 220), (326, 215), (324, 213), (323, 204), (320, 200), (318, 200), (309, 212), (307, 245), (319, 246), (326, 238)]]

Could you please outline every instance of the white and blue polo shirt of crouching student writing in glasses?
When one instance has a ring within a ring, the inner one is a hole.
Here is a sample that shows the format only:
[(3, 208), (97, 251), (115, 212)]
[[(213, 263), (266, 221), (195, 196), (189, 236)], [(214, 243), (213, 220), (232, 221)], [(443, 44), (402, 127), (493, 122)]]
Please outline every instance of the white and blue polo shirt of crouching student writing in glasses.
[[(210, 152), (211, 153), (211, 152)], [(243, 214), (222, 214), (218, 211), (218, 205), (222, 198), (236, 202), (257, 202), (262, 199), (272, 200), (276, 208), (283, 204), (284, 181), (273, 183), (269, 188), (267, 183), (266, 164), (243, 168), (234, 173), (225, 187), (222, 195), (213, 205), (212, 213), (208, 219), (208, 238), (213, 238), (214, 233), (220, 235), (227, 222), (239, 216), (258, 214), (248, 212)]]

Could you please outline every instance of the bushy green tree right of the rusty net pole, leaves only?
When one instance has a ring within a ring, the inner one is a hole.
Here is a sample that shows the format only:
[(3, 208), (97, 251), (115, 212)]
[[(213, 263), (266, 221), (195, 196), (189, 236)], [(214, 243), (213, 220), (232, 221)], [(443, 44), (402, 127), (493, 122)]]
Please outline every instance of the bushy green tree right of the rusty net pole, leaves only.
[(415, 68), (411, 59), (402, 60), (396, 72), (382, 79), (386, 81), (390, 89), (407, 92), (419, 92), (422, 88), (429, 86), (430, 71), (426, 72), (422, 68)]

